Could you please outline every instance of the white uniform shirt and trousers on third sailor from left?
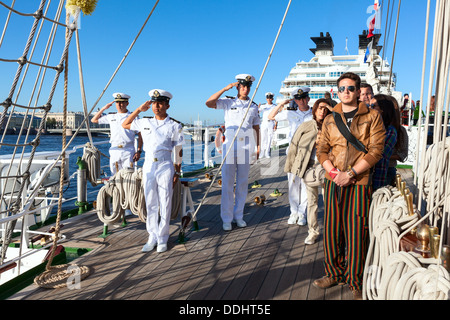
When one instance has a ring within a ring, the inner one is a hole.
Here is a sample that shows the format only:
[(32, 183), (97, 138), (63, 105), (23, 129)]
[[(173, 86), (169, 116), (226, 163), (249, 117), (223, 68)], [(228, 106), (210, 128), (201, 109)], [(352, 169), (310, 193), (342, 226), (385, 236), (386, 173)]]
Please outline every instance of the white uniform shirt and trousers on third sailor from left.
[[(225, 113), (225, 141), (222, 156), (224, 157), (236, 135), (242, 119), (247, 111), (249, 100), (238, 98), (221, 98), (216, 103), (217, 109)], [(259, 125), (258, 106), (252, 103), (246, 120), (239, 130), (238, 136), (222, 166), (222, 201), (220, 216), (223, 223), (242, 220), (244, 216), (245, 200), (248, 193), (248, 173), (250, 171), (251, 156), (254, 152), (255, 135), (253, 126)], [(236, 190), (233, 192), (236, 179)]]

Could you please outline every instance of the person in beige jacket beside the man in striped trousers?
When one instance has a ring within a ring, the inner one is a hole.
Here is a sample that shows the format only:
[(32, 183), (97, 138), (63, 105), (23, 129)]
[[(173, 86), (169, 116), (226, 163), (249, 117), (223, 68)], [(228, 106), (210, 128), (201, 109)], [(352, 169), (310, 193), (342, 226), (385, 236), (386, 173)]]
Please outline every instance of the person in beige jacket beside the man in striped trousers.
[[(322, 122), (330, 113), (332, 106), (327, 99), (317, 100), (312, 108), (313, 120), (303, 122), (295, 131), (289, 144), (289, 151), (284, 166), (284, 172), (303, 178), (307, 169), (317, 161), (316, 146), (322, 130)], [(308, 237), (305, 244), (314, 244), (319, 236), (317, 211), (319, 187), (306, 185), (308, 206), (306, 210), (308, 221)]]

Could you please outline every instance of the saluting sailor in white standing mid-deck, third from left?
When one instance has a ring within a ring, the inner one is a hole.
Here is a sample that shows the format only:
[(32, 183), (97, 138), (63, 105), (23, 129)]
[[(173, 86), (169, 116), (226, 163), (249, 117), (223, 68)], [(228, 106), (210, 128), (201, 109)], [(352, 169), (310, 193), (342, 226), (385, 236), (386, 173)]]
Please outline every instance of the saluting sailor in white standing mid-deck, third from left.
[[(230, 83), (213, 94), (206, 101), (209, 108), (223, 109), (225, 114), (225, 141), (222, 155), (223, 157), (227, 156), (227, 158), (222, 166), (222, 201), (220, 204), (220, 216), (225, 231), (232, 229), (232, 222), (236, 222), (240, 228), (247, 226), (243, 216), (248, 193), (251, 156), (255, 150), (255, 139), (258, 150), (256, 158), (258, 158), (260, 151), (259, 125), (261, 120), (258, 106), (253, 102), (249, 105), (250, 98), (248, 97), (255, 78), (249, 74), (239, 74), (236, 76), (236, 80), (236, 82)], [(220, 98), (223, 93), (233, 87), (238, 90), (236, 98)], [(245, 117), (247, 109), (248, 114)], [(245, 120), (238, 131), (244, 117)], [(235, 136), (236, 139), (232, 145)], [(228, 150), (230, 151), (228, 152)], [(233, 192), (235, 179), (236, 190)]]

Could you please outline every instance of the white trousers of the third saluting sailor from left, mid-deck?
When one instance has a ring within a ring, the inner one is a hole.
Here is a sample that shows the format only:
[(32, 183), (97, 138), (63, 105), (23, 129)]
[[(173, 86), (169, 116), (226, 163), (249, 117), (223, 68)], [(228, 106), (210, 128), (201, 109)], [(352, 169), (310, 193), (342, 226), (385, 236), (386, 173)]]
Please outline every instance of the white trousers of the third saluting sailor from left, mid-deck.
[[(226, 144), (224, 144), (223, 152), (227, 152)], [(248, 194), (249, 171), (250, 157), (248, 149), (241, 149), (235, 145), (234, 150), (231, 150), (222, 166), (220, 217), (224, 223), (231, 223), (233, 219), (240, 220), (244, 216), (245, 200)], [(235, 181), (236, 190), (233, 191)]]

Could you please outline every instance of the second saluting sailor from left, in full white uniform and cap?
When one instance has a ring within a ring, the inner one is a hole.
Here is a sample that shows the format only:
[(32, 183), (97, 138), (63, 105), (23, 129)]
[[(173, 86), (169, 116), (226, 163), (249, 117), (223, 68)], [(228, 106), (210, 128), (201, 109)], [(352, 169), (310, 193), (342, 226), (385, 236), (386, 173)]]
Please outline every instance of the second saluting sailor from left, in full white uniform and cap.
[[(182, 125), (167, 113), (172, 94), (153, 89), (149, 95), (151, 99), (137, 108), (125, 120), (123, 127), (139, 131), (144, 140), (142, 183), (149, 237), (142, 251), (148, 252), (157, 247), (157, 252), (164, 252), (169, 239), (173, 186), (180, 176), (184, 136)], [(147, 111), (150, 106), (155, 116), (138, 119), (138, 114)]]

